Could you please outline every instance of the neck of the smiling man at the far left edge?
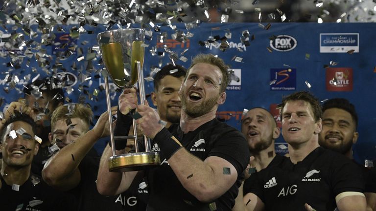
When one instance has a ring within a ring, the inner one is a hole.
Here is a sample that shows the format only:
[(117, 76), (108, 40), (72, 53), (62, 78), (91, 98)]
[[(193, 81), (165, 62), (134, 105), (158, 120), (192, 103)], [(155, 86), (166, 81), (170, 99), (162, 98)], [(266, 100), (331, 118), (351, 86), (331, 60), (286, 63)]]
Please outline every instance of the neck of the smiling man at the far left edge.
[(2, 163), (1, 175), (8, 185), (23, 185), (30, 176), (30, 169), (30, 165), (22, 168), (14, 168)]

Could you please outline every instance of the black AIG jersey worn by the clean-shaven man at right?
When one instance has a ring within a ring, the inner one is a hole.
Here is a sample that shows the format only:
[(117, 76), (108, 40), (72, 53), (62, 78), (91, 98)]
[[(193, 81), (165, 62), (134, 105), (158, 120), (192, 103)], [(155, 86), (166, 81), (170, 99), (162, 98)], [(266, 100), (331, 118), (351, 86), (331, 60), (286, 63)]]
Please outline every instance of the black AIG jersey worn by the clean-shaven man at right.
[(305, 211), (305, 203), (317, 211), (333, 211), (339, 193), (363, 192), (360, 172), (347, 157), (319, 147), (296, 165), (287, 158), (252, 174), (244, 189), (256, 194), (266, 211)]

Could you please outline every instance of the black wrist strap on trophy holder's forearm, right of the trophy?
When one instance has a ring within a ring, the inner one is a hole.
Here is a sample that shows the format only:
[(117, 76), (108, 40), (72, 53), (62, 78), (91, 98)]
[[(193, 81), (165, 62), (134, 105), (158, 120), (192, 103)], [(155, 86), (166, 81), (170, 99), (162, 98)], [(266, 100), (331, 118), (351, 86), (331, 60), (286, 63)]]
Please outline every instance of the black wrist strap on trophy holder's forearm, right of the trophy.
[(177, 150), (182, 148), (182, 144), (175, 138), (167, 128), (163, 128), (157, 133), (153, 139), (154, 143), (157, 143), (163, 153), (164, 157), (168, 160)]

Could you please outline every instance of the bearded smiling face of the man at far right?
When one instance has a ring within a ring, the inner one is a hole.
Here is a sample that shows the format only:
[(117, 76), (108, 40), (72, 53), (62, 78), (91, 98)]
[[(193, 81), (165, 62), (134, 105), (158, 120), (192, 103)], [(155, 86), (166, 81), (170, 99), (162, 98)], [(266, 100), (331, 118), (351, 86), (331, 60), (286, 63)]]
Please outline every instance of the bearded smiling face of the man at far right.
[(324, 111), (323, 130), (319, 136), (320, 146), (345, 154), (351, 151), (357, 138), (355, 123), (349, 112), (340, 108)]

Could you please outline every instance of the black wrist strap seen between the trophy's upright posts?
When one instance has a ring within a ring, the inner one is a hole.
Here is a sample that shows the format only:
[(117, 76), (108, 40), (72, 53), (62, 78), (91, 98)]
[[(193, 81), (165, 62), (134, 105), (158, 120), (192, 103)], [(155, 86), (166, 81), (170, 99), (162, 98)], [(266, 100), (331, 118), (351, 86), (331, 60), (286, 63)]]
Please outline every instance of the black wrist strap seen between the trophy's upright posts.
[[(118, 119), (116, 120), (116, 126), (114, 129), (114, 136), (127, 136), (132, 126), (131, 112), (124, 115), (120, 112), (118, 107)], [(111, 142), (108, 143), (110, 147)], [(127, 147), (127, 140), (115, 140), (116, 150), (121, 150)]]

